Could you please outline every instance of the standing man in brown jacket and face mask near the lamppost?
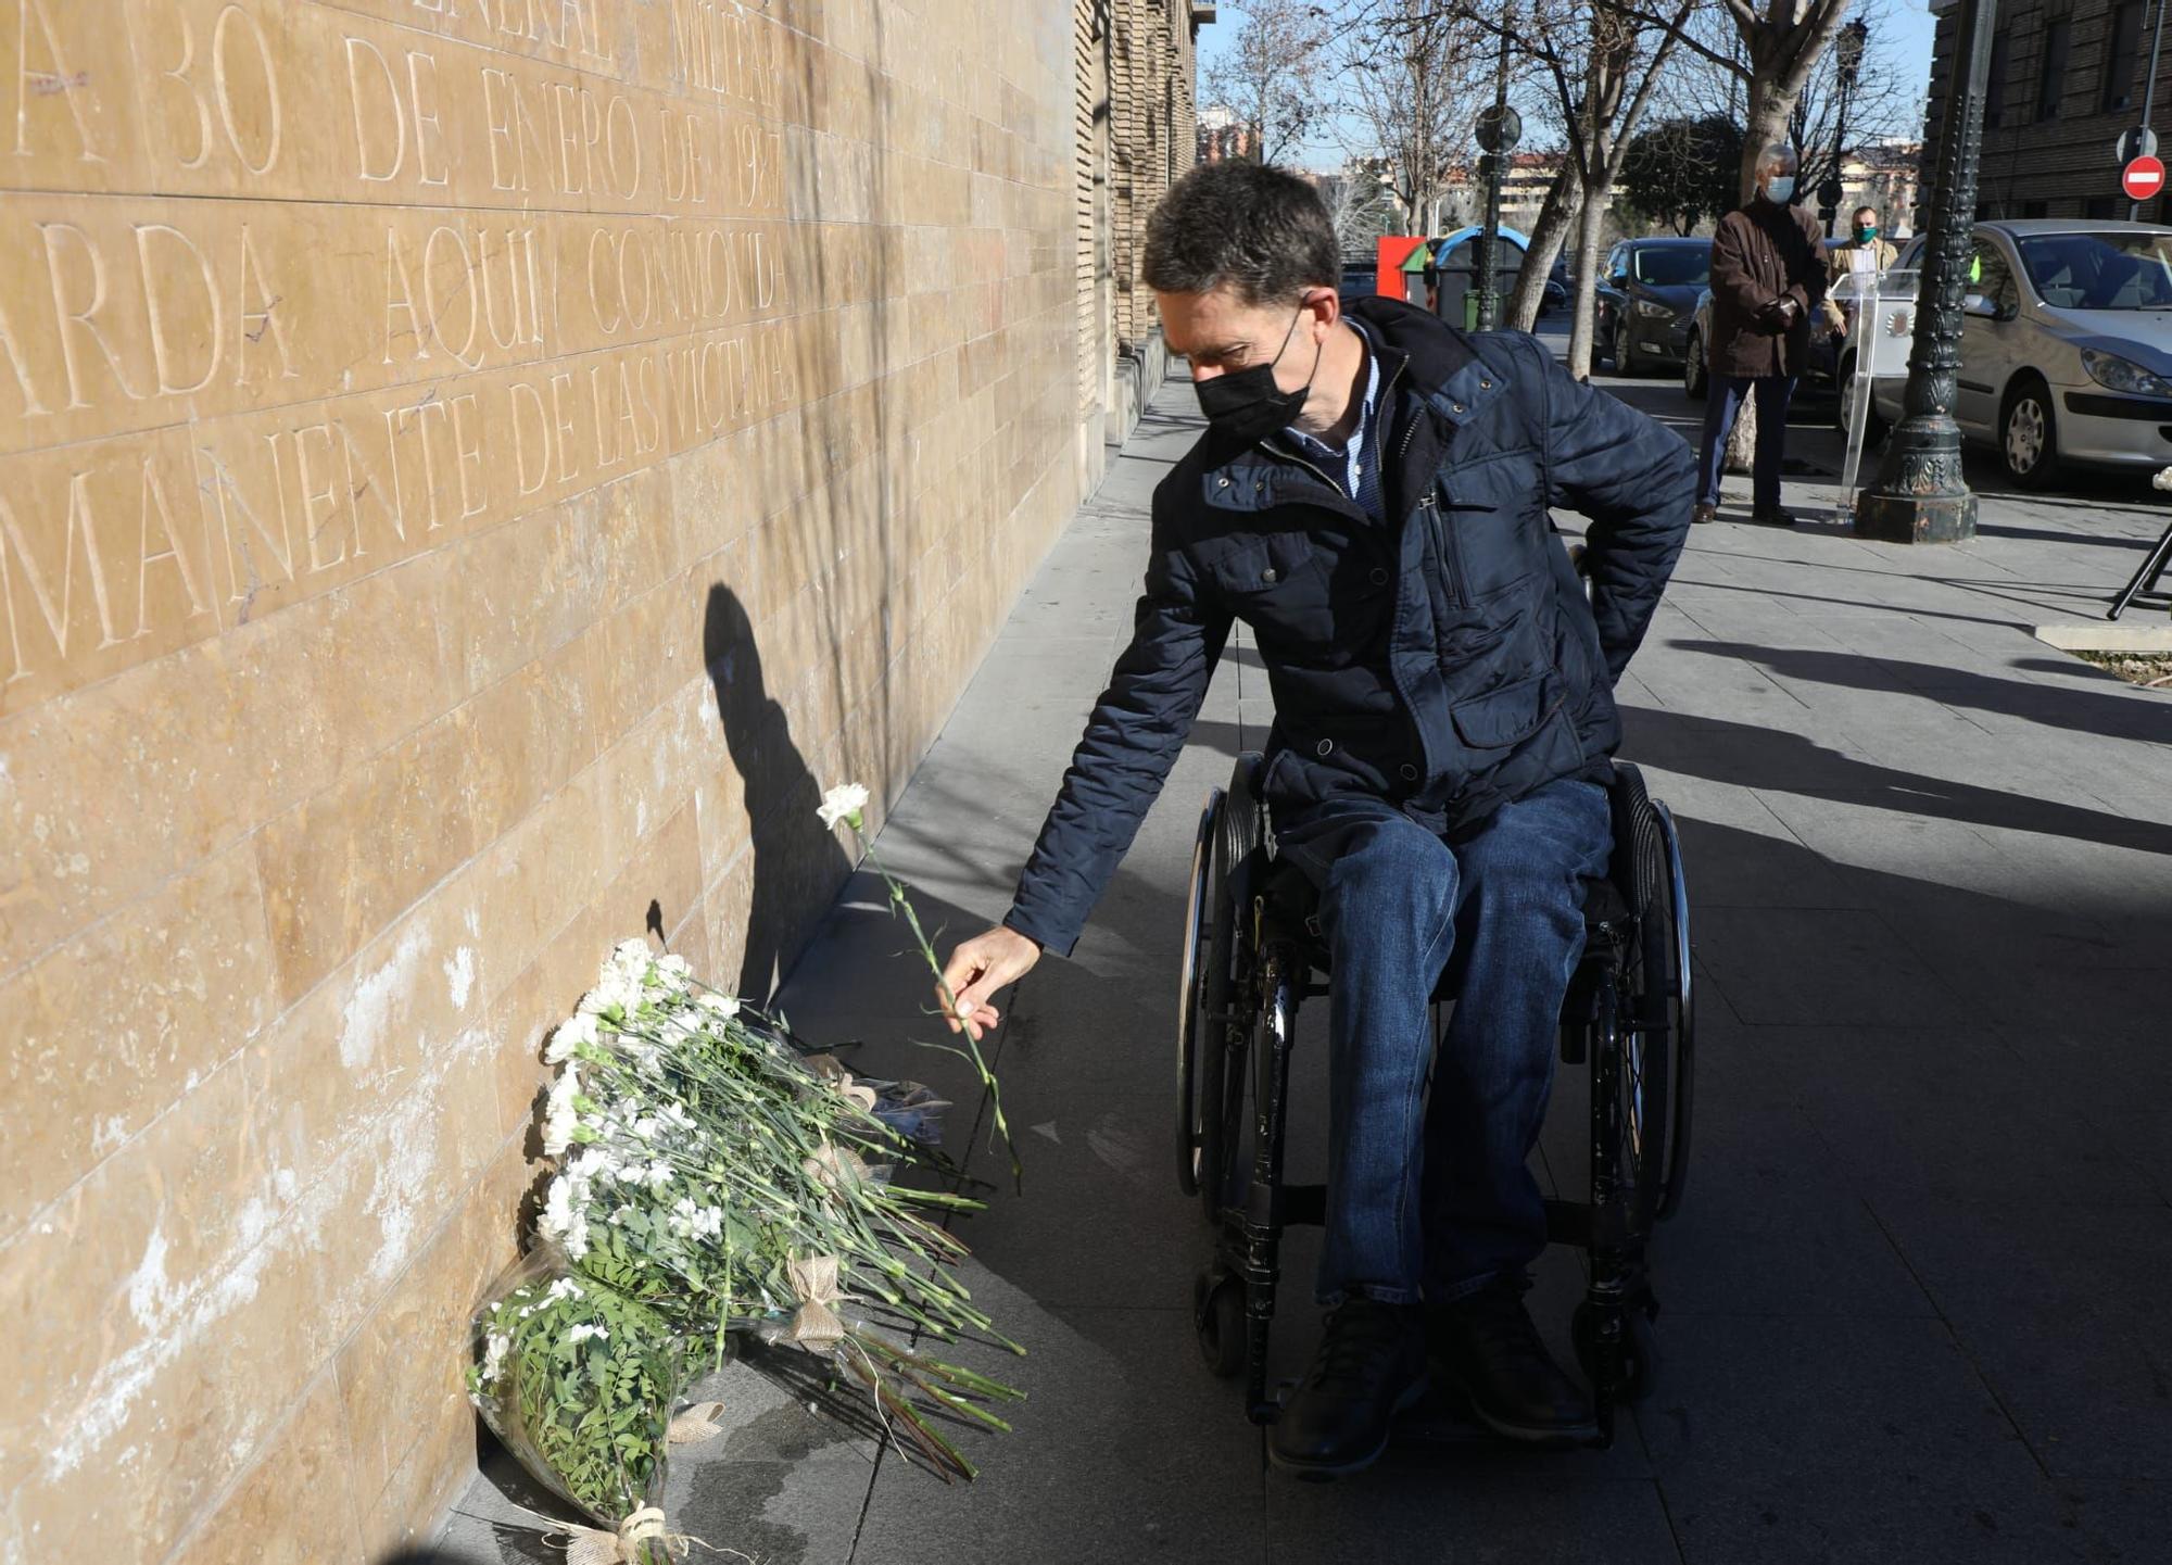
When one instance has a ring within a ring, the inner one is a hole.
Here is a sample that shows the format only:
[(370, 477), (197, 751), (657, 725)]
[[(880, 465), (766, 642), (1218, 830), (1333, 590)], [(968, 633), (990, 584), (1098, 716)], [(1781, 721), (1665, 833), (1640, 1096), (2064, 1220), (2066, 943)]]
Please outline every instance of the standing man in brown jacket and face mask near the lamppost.
[(1757, 400), (1757, 456), (1751, 463), (1751, 522), (1794, 526), (1779, 502), (1788, 454), (1788, 402), (1809, 359), (1809, 322), (1824, 302), (1824, 235), (1794, 204), (1794, 148), (1768, 146), (1757, 159), (1757, 189), (1720, 217), (1712, 235), (1712, 391), (1696, 474), (1696, 522), (1720, 506), (1727, 430), (1744, 400)]

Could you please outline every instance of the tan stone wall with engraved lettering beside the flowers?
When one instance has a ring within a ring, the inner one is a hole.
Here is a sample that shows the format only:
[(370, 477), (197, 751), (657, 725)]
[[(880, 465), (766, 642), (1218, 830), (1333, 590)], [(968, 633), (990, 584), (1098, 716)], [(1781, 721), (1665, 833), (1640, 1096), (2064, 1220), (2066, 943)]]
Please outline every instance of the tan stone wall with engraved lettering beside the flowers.
[(463, 1482), (543, 1028), (767, 987), (1099, 459), (1071, 24), (0, 0), (0, 1558)]

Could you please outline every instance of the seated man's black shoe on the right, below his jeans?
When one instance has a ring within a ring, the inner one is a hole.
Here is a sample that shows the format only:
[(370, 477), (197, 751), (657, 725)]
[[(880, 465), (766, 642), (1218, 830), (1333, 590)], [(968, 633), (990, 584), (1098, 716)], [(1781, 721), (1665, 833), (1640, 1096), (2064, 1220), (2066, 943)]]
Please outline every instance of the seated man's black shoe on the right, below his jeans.
[(1473, 1417), (1494, 1435), (1544, 1445), (1599, 1437), (1592, 1404), (1540, 1341), (1520, 1280), (1429, 1306), (1425, 1339), (1436, 1374), (1462, 1387)]

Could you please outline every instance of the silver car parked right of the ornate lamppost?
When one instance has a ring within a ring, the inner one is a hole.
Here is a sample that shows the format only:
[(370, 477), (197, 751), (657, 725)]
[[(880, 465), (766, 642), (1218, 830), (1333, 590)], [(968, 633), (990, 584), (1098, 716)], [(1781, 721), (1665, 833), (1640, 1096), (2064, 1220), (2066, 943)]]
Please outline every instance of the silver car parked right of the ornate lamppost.
[[(1901, 252), (1920, 265), (1922, 239)], [(1955, 420), (2026, 487), (2066, 463), (2172, 465), (2172, 228), (2083, 217), (1981, 222)], [(1842, 339), (1846, 343), (1846, 339)], [(1842, 346), (1842, 383), (1851, 374)], [(1901, 378), (1872, 387), (1901, 417)]]

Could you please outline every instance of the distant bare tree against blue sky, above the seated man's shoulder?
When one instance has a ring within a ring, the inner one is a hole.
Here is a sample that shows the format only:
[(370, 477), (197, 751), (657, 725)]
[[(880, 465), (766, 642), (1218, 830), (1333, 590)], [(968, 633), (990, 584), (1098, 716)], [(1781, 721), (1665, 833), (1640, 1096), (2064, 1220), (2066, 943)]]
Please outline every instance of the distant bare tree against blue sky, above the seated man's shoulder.
[(1410, 233), (1440, 233), (1449, 174), (1477, 150), (1477, 111), (1492, 98), (1488, 33), (1438, 0), (1366, 0), (1344, 26), (1336, 80), (1349, 150), (1381, 161)]

